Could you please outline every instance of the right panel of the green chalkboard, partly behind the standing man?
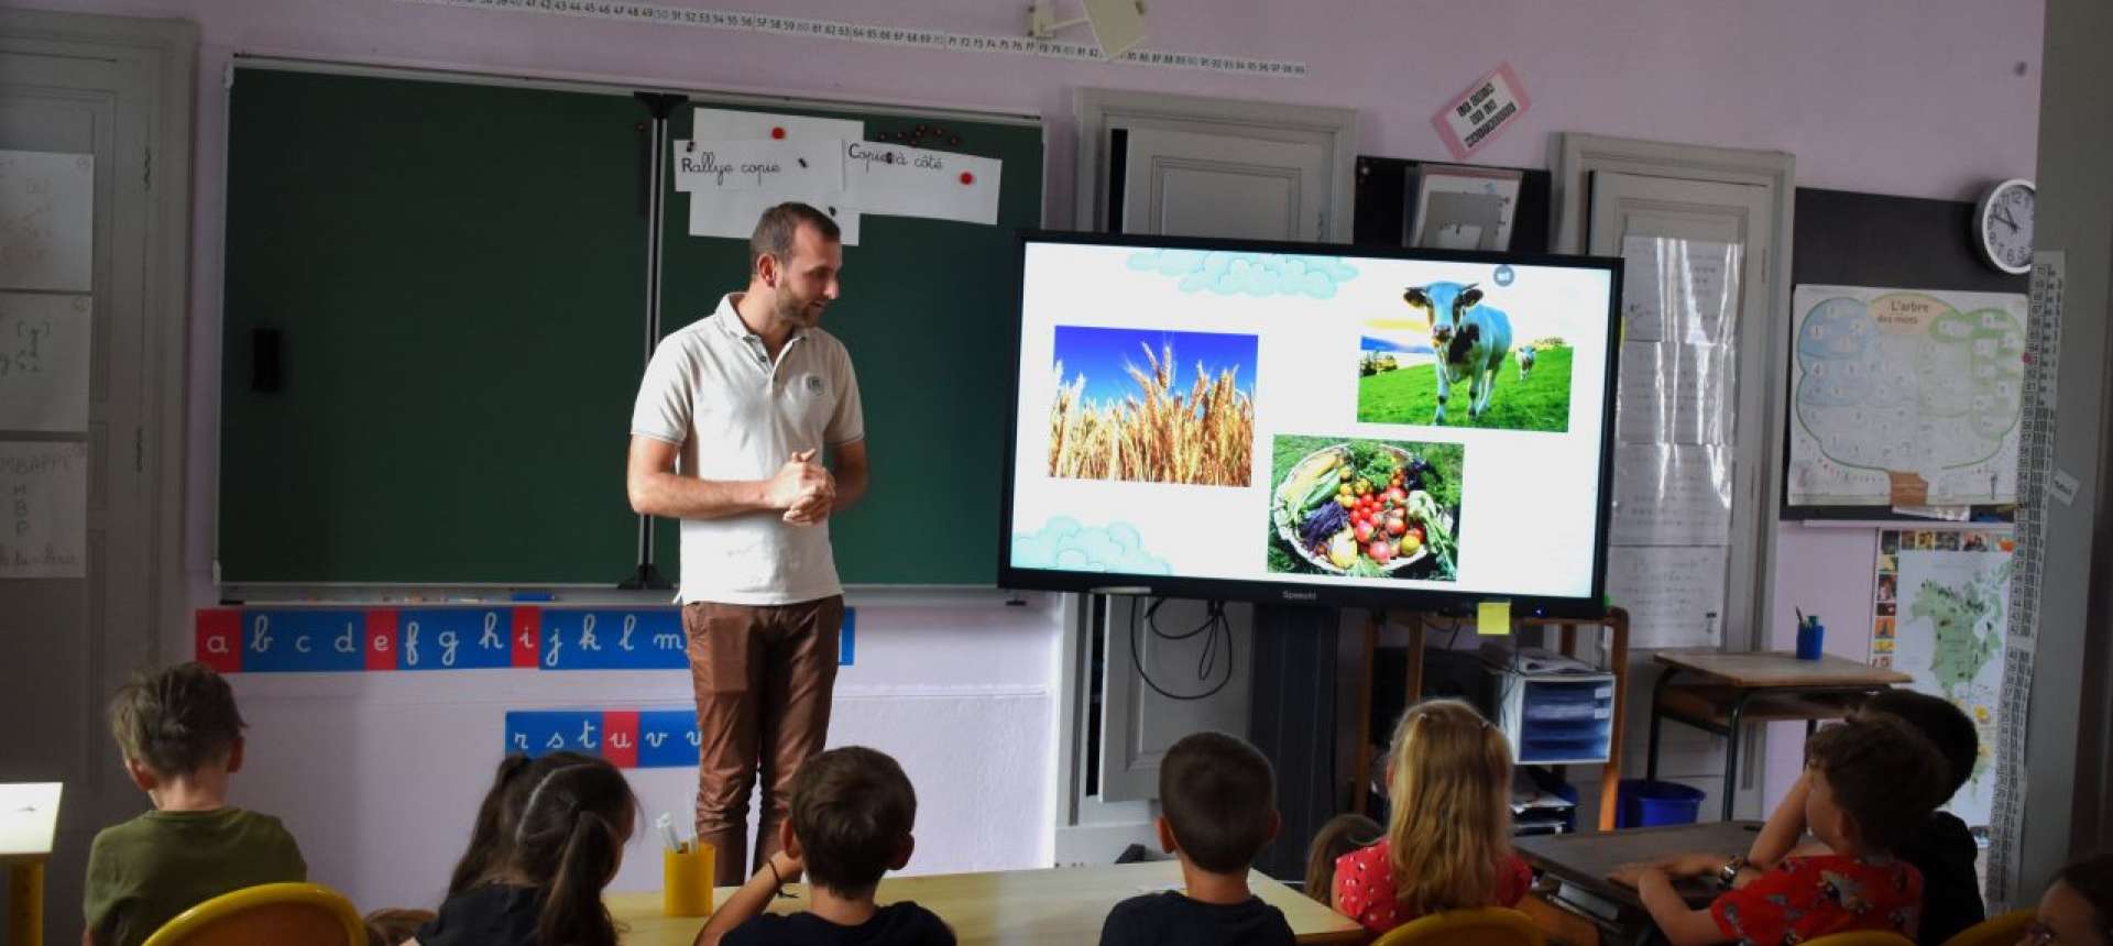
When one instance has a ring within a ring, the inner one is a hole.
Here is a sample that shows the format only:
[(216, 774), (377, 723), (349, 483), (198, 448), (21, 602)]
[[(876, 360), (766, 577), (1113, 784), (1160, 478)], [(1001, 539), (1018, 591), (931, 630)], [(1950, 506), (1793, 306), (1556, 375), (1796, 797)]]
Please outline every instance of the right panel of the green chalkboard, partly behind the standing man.
[[(866, 500), (830, 522), (843, 581), (993, 585), (1018, 325), (1014, 230), (1042, 220), (1042, 129), (771, 112), (864, 118), (868, 139), (940, 125), (959, 137), (945, 150), (1004, 160), (995, 228), (864, 217), (858, 245), (843, 249), (843, 296), (822, 321), (852, 351), (873, 460)], [(689, 110), (672, 125), (674, 137), (689, 137)], [(663, 332), (710, 315), (748, 281), (748, 241), (689, 236), (678, 217), (670, 213), (666, 230)], [(674, 528), (655, 536), (655, 560), (674, 562)]]

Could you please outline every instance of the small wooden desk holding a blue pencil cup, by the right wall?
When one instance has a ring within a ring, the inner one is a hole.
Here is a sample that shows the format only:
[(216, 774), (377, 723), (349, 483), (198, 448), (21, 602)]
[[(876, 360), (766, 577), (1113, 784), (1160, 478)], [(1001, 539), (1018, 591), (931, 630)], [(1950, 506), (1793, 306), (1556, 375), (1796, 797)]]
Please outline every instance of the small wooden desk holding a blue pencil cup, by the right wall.
[[(1811, 735), (1819, 720), (1838, 720), (1872, 693), (1912, 680), (1832, 655), (1800, 661), (1783, 650), (1659, 650), (1665, 665), (1650, 690), (1650, 752), (1644, 777), (1659, 777), (1659, 720), (1678, 720), (1726, 739), (1724, 819), (1731, 821), (1739, 788), (1739, 735), (1747, 722), (1802, 720)], [(1676, 684), (1676, 678), (1686, 682)]]

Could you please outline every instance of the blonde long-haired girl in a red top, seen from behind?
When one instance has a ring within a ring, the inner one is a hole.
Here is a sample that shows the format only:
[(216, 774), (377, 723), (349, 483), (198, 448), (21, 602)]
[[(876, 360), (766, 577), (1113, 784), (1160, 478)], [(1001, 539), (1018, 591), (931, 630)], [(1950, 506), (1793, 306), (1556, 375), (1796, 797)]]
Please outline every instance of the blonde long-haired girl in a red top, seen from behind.
[(1384, 933), (1439, 910), (1515, 906), (1534, 872), (1511, 851), (1511, 743), (1471, 705), (1409, 707), (1386, 754), (1386, 840), (1335, 862), (1335, 912)]

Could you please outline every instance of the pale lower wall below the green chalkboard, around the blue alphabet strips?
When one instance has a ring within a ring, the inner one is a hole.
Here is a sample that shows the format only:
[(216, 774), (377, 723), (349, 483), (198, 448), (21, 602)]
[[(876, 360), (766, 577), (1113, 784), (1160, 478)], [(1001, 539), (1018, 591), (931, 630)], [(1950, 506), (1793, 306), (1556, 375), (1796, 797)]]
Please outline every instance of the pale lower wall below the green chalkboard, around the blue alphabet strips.
[[(1054, 598), (866, 606), (837, 676), (830, 745), (896, 756), (917, 786), (906, 872), (1050, 864)], [(503, 754), (507, 710), (691, 707), (682, 671), (243, 674), (237, 802), (287, 821), (311, 878), (361, 908), (433, 906)], [(691, 824), (695, 769), (634, 769), (647, 824)], [(142, 798), (144, 800), (144, 798)], [(754, 802), (750, 807), (754, 813)], [(659, 889), (649, 832), (617, 889)]]

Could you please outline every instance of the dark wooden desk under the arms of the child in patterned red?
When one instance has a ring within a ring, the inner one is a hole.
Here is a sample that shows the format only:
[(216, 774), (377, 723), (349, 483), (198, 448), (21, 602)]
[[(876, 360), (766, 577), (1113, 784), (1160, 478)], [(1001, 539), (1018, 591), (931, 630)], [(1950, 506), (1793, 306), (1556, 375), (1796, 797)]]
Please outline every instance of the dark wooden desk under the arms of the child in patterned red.
[[(1612, 834), (1545, 834), (1517, 838), (1513, 847), (1528, 864), (1542, 874), (1542, 889), (1532, 904), (1521, 904), (1549, 935), (1566, 944), (1593, 944), (1597, 940), (1644, 942), (1650, 931), (1650, 912), (1635, 895), (1633, 887), (1608, 881), (1614, 868), (1625, 864), (1654, 862), (1678, 853), (1709, 851), (1726, 859), (1754, 847), (1760, 821), (1709, 821), (1682, 824), (1669, 828), (1631, 828)], [(1557, 881), (1557, 889), (1549, 889)], [(1676, 885), (1688, 906), (1707, 906), (1718, 889), (1707, 881), (1680, 881)], [(1595, 912), (1589, 906), (1597, 904)], [(1608, 916), (1612, 912), (1612, 916)], [(1587, 933), (1589, 931), (1589, 933)], [(1600, 933), (1606, 935), (1600, 935)]]

